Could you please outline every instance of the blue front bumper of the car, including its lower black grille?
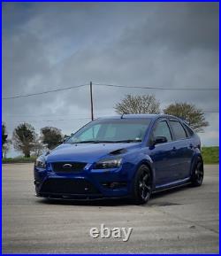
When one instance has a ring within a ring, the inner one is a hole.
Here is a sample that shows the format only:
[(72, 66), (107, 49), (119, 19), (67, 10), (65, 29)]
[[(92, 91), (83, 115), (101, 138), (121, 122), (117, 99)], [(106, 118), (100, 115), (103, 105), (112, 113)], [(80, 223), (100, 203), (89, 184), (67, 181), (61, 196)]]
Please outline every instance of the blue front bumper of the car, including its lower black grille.
[(112, 170), (82, 170), (76, 174), (57, 174), (34, 167), (36, 195), (43, 198), (96, 199), (125, 198), (131, 182), (122, 167)]

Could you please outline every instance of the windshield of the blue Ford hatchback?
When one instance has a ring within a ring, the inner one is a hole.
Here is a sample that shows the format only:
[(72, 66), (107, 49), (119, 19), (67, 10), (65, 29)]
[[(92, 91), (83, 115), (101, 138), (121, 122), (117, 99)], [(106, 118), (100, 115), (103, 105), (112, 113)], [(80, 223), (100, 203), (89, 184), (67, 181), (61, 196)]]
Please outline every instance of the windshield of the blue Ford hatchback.
[(149, 123), (149, 119), (94, 120), (65, 143), (139, 143)]

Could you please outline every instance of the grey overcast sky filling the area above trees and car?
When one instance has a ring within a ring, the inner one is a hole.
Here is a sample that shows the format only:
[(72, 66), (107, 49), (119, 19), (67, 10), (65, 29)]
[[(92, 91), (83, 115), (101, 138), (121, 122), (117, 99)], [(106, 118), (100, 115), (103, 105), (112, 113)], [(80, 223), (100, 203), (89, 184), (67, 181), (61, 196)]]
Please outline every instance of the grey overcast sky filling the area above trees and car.
[[(218, 12), (218, 3), (3, 3), (3, 97), (89, 81), (218, 88)], [(128, 93), (202, 108), (202, 144), (218, 144), (218, 91), (95, 85), (95, 117), (115, 114)], [(9, 136), (21, 121), (70, 134), (90, 120), (89, 87), (3, 100), (3, 120)]]

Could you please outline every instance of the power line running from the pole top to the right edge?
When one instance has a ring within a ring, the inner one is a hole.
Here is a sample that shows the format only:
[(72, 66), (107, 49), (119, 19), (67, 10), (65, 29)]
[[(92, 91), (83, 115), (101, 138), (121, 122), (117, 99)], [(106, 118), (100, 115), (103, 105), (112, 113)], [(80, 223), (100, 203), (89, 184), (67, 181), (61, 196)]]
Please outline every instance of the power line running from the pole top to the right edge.
[(95, 83), (95, 85), (101, 85), (101, 86), (109, 86), (109, 87), (119, 87), (119, 88), (139, 88), (139, 89), (180, 89), (180, 90), (218, 90), (218, 88), (172, 88), (172, 87), (149, 87), (149, 86), (127, 86), (127, 85), (119, 85), (119, 84), (108, 84), (108, 83)]

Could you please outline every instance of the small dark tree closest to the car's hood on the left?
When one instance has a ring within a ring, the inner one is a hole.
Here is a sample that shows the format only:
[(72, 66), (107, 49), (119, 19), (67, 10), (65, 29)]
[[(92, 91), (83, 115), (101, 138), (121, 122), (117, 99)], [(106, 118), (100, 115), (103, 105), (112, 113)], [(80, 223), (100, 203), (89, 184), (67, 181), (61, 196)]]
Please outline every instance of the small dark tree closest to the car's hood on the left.
[(41, 129), (42, 143), (47, 144), (49, 150), (57, 147), (63, 141), (61, 130), (54, 127), (45, 127)]

